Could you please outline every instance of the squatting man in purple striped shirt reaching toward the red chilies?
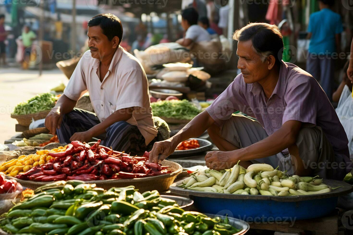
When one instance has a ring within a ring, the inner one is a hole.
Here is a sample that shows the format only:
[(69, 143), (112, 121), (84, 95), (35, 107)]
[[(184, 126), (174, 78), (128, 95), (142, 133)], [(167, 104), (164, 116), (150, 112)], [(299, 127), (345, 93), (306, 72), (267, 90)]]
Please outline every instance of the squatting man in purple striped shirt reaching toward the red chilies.
[(163, 160), (178, 143), (207, 129), (220, 149), (205, 156), (210, 168), (231, 168), (241, 160), (245, 168), (261, 162), (289, 174), (342, 180), (352, 169), (345, 130), (318, 82), (281, 60), (278, 27), (248, 24), (233, 39), (241, 74), (177, 135), (155, 143), (150, 161)]

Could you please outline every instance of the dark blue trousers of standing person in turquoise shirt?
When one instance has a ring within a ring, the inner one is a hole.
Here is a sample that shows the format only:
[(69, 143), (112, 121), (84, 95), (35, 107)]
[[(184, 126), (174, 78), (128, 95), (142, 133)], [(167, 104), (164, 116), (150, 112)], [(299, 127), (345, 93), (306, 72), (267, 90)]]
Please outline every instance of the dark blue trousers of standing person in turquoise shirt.
[(334, 59), (327, 55), (309, 55), (306, 60), (306, 71), (310, 73), (326, 93), (329, 100), (332, 100), (332, 89), (334, 84)]

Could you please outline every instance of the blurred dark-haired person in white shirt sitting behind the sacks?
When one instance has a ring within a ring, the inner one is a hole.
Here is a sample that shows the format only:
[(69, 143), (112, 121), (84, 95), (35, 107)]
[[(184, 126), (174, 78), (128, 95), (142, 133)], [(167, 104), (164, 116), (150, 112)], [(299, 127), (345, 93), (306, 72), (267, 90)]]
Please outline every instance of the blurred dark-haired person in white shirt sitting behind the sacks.
[(181, 26), (185, 33), (184, 38), (176, 42), (189, 47), (194, 42), (210, 41), (211, 36), (207, 30), (197, 24), (198, 13), (194, 8), (187, 8), (181, 12)]

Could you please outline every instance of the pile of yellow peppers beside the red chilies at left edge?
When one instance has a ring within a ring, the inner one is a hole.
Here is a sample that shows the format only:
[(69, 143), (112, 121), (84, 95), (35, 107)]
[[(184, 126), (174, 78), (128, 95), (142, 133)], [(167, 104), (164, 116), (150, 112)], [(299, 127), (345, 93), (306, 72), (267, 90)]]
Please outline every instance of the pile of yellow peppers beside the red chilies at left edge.
[(3, 162), (0, 171), (12, 177), (28, 172), (32, 167), (38, 167), (49, 162), (53, 157), (49, 154), (65, 151), (64, 147), (54, 148), (52, 150), (37, 150), (36, 154), (21, 155), (17, 159)]

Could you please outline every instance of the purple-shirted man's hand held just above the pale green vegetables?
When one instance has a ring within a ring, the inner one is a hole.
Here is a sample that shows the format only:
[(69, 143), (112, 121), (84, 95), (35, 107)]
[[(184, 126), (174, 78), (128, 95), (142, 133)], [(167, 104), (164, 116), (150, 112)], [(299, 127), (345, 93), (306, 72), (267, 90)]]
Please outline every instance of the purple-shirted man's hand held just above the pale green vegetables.
[(210, 169), (230, 169), (237, 164), (235, 151), (211, 151), (205, 156), (206, 166)]

